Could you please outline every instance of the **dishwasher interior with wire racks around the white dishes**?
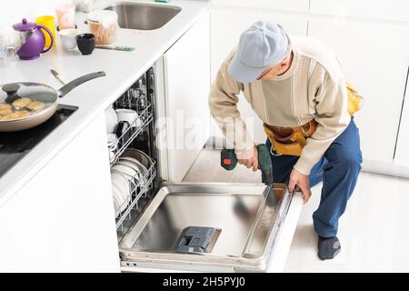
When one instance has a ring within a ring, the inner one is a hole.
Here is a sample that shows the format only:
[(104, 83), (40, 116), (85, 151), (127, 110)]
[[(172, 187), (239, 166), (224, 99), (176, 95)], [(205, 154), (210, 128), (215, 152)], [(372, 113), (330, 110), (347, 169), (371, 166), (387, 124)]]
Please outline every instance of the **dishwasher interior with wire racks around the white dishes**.
[(154, 190), (160, 183), (155, 146), (155, 68), (147, 70), (115, 101), (113, 107), (115, 110), (135, 110), (137, 118), (129, 123), (130, 126), (121, 135), (116, 135), (115, 145), (108, 145), (110, 152), (114, 153), (110, 156), (111, 169), (118, 164), (121, 156), (133, 149), (144, 152), (149, 160), (147, 165), (143, 165), (146, 171), (136, 173), (132, 178), (128, 176), (131, 196), (125, 205), (120, 206), (121, 211), (115, 218), (119, 242), (154, 196)]

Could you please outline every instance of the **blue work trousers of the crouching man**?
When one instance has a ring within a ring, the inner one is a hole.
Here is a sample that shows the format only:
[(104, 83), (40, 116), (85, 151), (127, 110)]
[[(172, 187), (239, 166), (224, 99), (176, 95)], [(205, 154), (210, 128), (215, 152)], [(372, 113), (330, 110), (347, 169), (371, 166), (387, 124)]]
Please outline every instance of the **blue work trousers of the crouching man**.
[[(268, 138), (266, 145), (271, 148)], [(288, 185), (291, 171), (298, 158), (299, 156), (271, 155), (274, 183)], [(336, 236), (338, 219), (343, 215), (346, 202), (354, 192), (361, 164), (359, 131), (353, 116), (350, 124), (328, 147), (308, 176), (310, 186), (323, 182), (320, 205), (313, 215), (314, 229), (319, 236)]]

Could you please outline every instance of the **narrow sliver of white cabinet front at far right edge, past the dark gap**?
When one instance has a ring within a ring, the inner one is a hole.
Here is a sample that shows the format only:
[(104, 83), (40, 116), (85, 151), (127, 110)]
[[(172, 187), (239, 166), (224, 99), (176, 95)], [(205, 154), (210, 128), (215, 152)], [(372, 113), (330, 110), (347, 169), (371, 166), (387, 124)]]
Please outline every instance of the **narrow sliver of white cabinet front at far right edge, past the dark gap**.
[(406, 77), (406, 94), (404, 97), (404, 107), (402, 109), (401, 125), (397, 138), (394, 164), (397, 166), (409, 166), (409, 66)]

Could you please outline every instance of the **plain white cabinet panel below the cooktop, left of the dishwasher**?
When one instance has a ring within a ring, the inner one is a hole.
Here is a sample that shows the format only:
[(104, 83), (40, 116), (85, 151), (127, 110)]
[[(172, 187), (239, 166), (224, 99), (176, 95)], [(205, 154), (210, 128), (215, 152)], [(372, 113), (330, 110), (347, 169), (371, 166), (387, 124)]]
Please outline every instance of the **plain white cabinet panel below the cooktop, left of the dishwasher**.
[(104, 115), (0, 208), (0, 272), (119, 272)]

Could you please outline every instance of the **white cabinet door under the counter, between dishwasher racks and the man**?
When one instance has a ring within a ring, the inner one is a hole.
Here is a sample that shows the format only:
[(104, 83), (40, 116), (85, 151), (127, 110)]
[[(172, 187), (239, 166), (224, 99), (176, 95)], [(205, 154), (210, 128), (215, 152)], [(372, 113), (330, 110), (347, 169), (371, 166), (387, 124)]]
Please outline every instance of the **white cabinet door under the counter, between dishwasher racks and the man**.
[(182, 181), (209, 137), (210, 15), (164, 55), (168, 179)]

